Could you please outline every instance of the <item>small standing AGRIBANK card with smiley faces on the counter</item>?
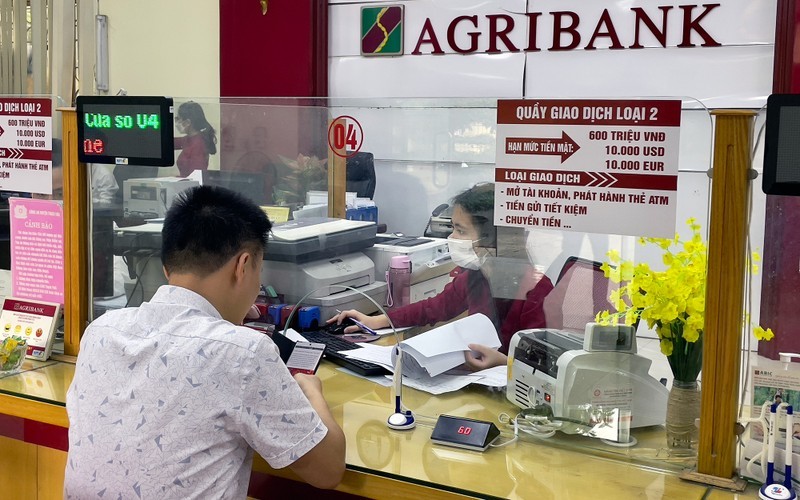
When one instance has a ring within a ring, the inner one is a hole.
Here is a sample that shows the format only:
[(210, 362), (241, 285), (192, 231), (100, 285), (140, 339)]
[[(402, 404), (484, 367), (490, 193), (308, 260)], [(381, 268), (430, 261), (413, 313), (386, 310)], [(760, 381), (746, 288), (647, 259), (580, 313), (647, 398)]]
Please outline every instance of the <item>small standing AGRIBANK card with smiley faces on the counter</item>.
[(7, 297), (0, 311), (2, 333), (5, 337), (21, 337), (28, 344), (27, 357), (44, 361), (50, 357), (55, 338), (55, 325), (61, 305)]

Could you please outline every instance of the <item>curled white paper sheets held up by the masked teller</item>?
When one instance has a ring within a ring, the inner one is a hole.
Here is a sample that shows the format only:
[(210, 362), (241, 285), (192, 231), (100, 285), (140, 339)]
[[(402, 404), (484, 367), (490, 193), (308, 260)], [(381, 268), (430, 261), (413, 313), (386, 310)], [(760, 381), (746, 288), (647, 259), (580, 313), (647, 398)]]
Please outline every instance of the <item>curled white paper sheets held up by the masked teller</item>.
[[(403, 375), (415, 379), (435, 377), (464, 363), (469, 344), (500, 347), (492, 321), (473, 314), (400, 342), (403, 350)], [(392, 364), (394, 364), (394, 352)]]

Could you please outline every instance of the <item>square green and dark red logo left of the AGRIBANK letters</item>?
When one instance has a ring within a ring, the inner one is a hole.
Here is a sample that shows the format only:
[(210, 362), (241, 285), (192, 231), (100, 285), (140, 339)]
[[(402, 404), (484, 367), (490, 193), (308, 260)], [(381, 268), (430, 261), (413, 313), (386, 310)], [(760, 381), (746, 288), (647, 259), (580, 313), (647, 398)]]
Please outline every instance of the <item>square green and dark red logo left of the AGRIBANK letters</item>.
[(361, 55), (403, 55), (403, 6), (361, 7)]

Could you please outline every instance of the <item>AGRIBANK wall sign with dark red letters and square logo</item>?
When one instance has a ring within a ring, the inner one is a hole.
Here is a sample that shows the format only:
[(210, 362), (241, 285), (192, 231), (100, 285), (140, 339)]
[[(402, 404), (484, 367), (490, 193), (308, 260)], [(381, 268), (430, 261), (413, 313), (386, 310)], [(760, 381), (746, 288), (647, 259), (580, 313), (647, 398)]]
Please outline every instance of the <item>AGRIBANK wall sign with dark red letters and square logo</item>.
[[(721, 3), (660, 5), (601, 11), (486, 13), (458, 15), (443, 22), (425, 17), (421, 29), (404, 33), (403, 5), (361, 8), (361, 53), (402, 55), (411, 36), (411, 55), (499, 54), (646, 47), (719, 47), (713, 20)], [(447, 50), (449, 49), (449, 50)]]

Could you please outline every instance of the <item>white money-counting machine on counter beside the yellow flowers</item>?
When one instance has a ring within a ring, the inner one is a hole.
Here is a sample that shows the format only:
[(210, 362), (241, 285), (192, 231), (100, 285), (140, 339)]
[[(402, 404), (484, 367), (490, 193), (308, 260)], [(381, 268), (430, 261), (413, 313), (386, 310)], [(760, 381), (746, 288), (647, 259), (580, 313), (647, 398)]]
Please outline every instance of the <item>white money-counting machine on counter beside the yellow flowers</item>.
[[(587, 405), (630, 415), (630, 428), (664, 424), (668, 391), (636, 353), (635, 328), (589, 323), (581, 338), (549, 329), (511, 339), (506, 397), (521, 408), (550, 407), (577, 418)], [(627, 424), (627, 423), (626, 423)]]

